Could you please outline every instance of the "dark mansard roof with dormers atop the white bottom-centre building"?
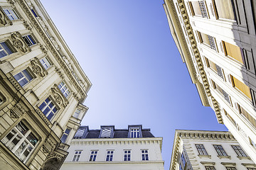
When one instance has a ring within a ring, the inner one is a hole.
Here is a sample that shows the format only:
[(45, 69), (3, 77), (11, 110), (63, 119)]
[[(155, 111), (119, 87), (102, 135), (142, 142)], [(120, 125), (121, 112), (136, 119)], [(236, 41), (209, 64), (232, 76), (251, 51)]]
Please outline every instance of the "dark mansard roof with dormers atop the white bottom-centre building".
[[(128, 138), (131, 128), (139, 129), (139, 137), (154, 137), (149, 128), (142, 129), (142, 125), (129, 125), (127, 129), (115, 129), (114, 125), (104, 125), (100, 129), (89, 130), (88, 126), (80, 126), (76, 132), (74, 139), (93, 139), (93, 138)], [(104, 135), (102, 137), (102, 130)], [(106, 132), (107, 131), (107, 132)], [(109, 133), (109, 135), (107, 134)]]

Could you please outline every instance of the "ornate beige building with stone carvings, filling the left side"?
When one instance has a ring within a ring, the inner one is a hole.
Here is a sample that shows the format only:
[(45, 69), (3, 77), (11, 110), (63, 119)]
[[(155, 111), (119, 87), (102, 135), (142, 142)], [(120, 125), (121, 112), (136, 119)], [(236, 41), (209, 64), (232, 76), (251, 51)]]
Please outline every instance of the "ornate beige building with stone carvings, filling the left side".
[(0, 169), (59, 169), (91, 86), (39, 0), (0, 1)]

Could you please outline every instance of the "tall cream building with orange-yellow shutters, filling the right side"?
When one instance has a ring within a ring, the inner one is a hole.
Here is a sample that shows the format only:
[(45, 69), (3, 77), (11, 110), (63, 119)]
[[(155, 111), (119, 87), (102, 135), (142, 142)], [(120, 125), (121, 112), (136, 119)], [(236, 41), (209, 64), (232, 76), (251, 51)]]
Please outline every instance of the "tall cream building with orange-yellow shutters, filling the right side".
[(256, 2), (164, 0), (171, 35), (203, 106), (256, 162)]

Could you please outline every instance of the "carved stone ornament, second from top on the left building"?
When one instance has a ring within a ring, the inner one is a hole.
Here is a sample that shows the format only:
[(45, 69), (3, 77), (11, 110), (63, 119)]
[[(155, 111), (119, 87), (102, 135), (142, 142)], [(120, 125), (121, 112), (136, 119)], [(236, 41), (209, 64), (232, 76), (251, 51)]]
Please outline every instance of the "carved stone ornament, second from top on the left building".
[(16, 32), (11, 34), (11, 40), (13, 42), (14, 47), (16, 47), (21, 52), (26, 53), (31, 51), (31, 48), (28, 47), (26, 42), (23, 40), (21, 33)]

